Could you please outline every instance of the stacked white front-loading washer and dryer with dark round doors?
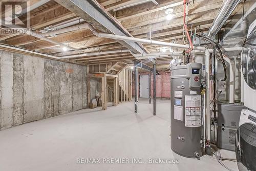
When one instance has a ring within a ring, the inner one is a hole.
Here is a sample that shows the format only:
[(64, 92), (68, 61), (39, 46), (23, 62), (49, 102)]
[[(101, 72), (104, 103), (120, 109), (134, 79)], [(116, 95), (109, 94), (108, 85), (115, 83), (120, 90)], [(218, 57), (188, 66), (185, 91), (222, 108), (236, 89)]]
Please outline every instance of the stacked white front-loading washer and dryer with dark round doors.
[(256, 20), (250, 25), (241, 57), (244, 105), (236, 134), (235, 151), (240, 171), (256, 171)]

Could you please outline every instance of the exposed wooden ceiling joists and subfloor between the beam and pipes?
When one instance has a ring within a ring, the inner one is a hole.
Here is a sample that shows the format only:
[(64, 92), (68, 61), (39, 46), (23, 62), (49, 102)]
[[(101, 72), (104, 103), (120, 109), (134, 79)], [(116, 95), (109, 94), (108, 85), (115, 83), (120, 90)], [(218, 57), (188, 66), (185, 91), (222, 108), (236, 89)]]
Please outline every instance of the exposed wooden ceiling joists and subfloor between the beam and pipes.
[[(33, 0), (38, 2), (37, 0)], [(39, 33), (40, 30), (54, 26), (56, 24), (66, 22), (72, 18), (78, 18), (76, 14), (66, 9), (58, 1), (50, 1), (38, 9), (30, 12), (30, 28)], [(149, 24), (151, 24), (152, 39), (160, 41), (173, 41), (174, 39), (183, 38), (182, 27), (182, 1), (181, 0), (161, 0), (159, 5), (152, 2), (135, 5), (129, 8), (123, 8), (113, 12), (113, 9), (123, 7), (127, 4), (133, 4), (134, 0), (125, 1), (105, 1), (98, 0), (98, 2), (109, 11), (110, 14), (116, 17), (122, 26), (129, 31), (134, 37), (149, 38)], [(221, 0), (188, 0), (188, 27), (194, 30), (197, 27), (197, 32), (207, 31), (215, 18), (222, 1)], [(173, 8), (174, 17), (172, 21), (165, 19), (165, 9)], [(81, 16), (79, 16), (81, 17)], [(70, 47), (82, 48), (87, 52), (98, 52), (108, 50), (119, 50), (124, 47), (114, 39), (100, 38), (92, 34), (88, 29), (62, 33), (56, 37), (49, 37), (55, 41), (63, 44), (68, 44)], [(55, 56), (65, 56), (74, 54), (72, 51), (63, 52), (62, 48), (53, 45), (47, 41), (29, 35), (13, 34), (11, 36), (0, 36), (1, 40), (5, 40), (5, 44), (15, 45), (31, 50), (39, 50), (42, 53), (49, 53)], [(182, 43), (182, 42), (180, 42)], [(150, 52), (158, 52), (159, 46), (143, 45)], [(75, 59), (68, 59), (76, 61), (85, 65), (93, 65), (99, 62), (125, 62), (132, 63), (135, 58), (130, 53), (118, 53), (110, 55), (87, 56)], [(157, 61), (160, 59), (157, 59)], [(168, 62), (168, 61), (166, 61)], [(102, 72), (100, 72), (102, 73)]]

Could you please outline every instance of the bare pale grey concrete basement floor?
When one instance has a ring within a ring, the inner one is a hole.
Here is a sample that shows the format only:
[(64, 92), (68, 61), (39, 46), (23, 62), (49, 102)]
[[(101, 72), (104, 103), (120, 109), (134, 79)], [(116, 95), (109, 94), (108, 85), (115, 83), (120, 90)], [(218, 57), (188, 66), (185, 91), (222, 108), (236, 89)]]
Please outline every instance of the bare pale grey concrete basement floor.
[[(181, 157), (170, 149), (169, 100), (134, 102), (86, 109), (0, 132), (0, 170), (226, 170), (214, 157)], [(235, 158), (221, 150), (223, 157)], [(100, 158), (101, 164), (77, 164), (77, 158)], [(103, 164), (103, 158), (142, 158), (145, 164)], [(179, 164), (148, 164), (149, 158), (178, 159)], [(233, 170), (237, 163), (224, 161)]]

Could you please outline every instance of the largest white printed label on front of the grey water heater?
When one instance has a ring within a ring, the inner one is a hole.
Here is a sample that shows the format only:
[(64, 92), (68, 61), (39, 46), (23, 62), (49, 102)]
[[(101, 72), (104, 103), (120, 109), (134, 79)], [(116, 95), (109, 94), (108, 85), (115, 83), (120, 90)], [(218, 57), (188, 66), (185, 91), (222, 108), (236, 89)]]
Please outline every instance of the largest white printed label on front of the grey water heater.
[(201, 95), (185, 96), (185, 126), (199, 127), (202, 125)]

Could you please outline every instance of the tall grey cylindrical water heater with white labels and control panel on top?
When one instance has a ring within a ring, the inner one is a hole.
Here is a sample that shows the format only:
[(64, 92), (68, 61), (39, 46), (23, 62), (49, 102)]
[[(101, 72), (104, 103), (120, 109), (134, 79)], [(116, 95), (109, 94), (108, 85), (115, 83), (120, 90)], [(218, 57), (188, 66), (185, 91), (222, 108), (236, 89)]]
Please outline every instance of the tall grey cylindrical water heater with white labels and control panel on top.
[(184, 157), (202, 156), (202, 64), (170, 68), (170, 146)]

